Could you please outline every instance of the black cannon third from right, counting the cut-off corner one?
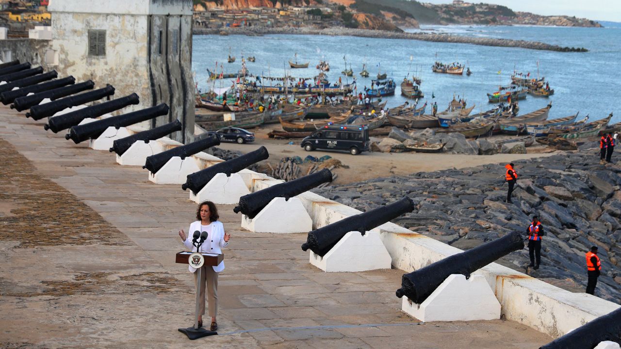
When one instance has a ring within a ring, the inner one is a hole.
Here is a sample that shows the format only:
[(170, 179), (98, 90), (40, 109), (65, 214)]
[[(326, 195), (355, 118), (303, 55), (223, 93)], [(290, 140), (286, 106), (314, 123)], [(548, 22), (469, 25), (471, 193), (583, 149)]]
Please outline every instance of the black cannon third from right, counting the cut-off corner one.
[(414, 201), (409, 197), (404, 197), (397, 202), (392, 202), (392, 204), (352, 215), (309, 232), (306, 242), (302, 243), (302, 250), (306, 251), (310, 248), (312, 252), (323, 257), (348, 232), (360, 232), (365, 235), (368, 230), (412, 211), (414, 211)]

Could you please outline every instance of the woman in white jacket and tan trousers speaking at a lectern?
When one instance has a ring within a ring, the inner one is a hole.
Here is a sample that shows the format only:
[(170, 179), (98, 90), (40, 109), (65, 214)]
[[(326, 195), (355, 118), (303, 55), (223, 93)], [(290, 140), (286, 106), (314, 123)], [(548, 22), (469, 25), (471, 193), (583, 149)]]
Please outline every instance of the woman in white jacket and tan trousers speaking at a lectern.
[[(224, 225), (218, 222), (218, 210), (215, 208), (215, 204), (211, 201), (204, 201), (199, 204), (196, 211), (196, 222), (190, 224), (188, 229), (188, 235), (179, 230), (179, 237), (183, 240), (183, 245), (186, 248), (191, 248), (193, 252), (196, 251), (196, 247), (192, 245), (192, 239), (189, 237), (191, 232), (207, 232), (207, 240), (201, 245), (202, 253), (222, 253), (220, 248), (224, 248), (229, 245), (230, 234), (224, 232)], [(197, 269), (191, 266), (188, 267), (189, 271), (194, 273)], [(209, 316), (211, 316), (212, 331), (218, 329), (218, 324), (215, 320), (215, 316), (218, 314), (218, 273), (224, 270), (224, 261), (220, 262), (217, 266), (201, 266), (201, 279), (197, 280), (197, 275), (194, 273), (194, 285), (201, 283), (201, 293), (199, 294), (199, 315), (198, 325), (202, 327), (202, 315), (205, 314), (205, 284), (207, 284), (207, 298), (209, 300)]]

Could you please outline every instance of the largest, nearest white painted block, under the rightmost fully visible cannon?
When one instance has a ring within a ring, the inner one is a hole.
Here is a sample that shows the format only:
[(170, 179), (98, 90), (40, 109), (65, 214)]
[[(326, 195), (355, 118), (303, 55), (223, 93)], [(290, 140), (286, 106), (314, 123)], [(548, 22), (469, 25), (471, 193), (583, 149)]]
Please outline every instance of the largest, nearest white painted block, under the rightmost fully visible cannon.
[(501, 304), (487, 280), (451, 274), (422, 304), (402, 298), (401, 309), (422, 322), (494, 320), (501, 317)]

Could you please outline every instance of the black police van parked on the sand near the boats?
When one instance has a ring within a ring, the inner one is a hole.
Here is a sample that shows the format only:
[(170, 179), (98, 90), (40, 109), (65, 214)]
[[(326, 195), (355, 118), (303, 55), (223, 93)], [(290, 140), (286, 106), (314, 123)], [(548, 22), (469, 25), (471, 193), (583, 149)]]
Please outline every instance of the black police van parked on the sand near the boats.
[(325, 125), (304, 138), (301, 147), (307, 152), (335, 149), (358, 155), (369, 151), (369, 129), (361, 125)]

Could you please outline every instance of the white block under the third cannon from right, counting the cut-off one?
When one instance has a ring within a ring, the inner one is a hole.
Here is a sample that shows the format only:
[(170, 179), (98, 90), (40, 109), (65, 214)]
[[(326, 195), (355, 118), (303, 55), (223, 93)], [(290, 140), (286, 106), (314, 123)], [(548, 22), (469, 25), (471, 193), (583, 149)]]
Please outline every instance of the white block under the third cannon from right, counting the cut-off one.
[(391, 256), (375, 230), (348, 232), (323, 258), (310, 252), (311, 264), (327, 272), (391, 268)]

